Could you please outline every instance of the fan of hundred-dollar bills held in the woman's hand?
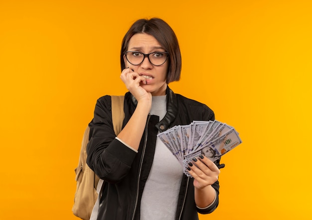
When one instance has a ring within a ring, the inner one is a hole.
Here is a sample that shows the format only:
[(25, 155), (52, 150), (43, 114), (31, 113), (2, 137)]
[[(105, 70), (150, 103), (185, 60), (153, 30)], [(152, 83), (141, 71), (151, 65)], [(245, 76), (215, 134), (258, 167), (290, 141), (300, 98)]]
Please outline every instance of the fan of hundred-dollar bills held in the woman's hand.
[(183, 166), (183, 172), (190, 176), (188, 163), (200, 154), (212, 162), (242, 143), (236, 130), (219, 121), (193, 121), (189, 125), (174, 126), (158, 138), (172, 152)]

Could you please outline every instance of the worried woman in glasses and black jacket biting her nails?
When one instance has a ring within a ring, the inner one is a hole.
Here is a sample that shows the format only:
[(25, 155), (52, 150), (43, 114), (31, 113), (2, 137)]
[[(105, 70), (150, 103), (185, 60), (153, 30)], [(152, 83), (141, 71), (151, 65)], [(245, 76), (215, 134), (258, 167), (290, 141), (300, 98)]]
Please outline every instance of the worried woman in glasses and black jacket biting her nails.
[(116, 137), (111, 97), (98, 99), (89, 124), (87, 163), (103, 179), (98, 220), (197, 220), (218, 206), (219, 161), (200, 156), (192, 178), (157, 133), (193, 120), (214, 120), (206, 105), (175, 94), (181, 55), (170, 26), (159, 18), (137, 20), (121, 48), (125, 94), (123, 129)]

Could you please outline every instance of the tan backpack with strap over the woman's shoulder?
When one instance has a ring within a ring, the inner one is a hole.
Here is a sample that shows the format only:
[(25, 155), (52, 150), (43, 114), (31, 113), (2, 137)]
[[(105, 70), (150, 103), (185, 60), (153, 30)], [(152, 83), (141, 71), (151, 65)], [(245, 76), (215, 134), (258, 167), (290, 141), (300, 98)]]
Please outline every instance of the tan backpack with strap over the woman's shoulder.
[[(112, 97), (112, 121), (115, 134), (118, 135), (122, 128), (125, 118), (124, 96)], [(89, 126), (86, 128), (80, 149), (78, 166), (75, 169), (76, 174), (76, 193), (72, 212), (75, 216), (89, 220), (94, 204), (97, 201), (98, 193), (96, 191), (100, 178), (87, 165), (87, 144), (89, 142)]]

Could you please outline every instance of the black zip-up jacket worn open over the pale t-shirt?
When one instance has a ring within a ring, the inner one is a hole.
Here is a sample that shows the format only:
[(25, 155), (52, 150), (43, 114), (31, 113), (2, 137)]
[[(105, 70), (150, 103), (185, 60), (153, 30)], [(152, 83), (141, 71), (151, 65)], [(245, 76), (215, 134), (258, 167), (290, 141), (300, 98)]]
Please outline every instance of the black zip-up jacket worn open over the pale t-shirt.
[[(111, 97), (98, 99), (94, 118), (90, 122), (87, 164), (106, 183), (102, 187), (98, 220), (140, 220), (141, 198), (148, 179), (156, 146), (156, 134), (175, 125), (187, 125), (194, 120), (214, 120), (206, 105), (174, 94), (168, 87), (167, 113), (149, 115), (138, 153), (115, 139), (111, 115)], [(136, 108), (130, 92), (125, 94), (123, 126)], [(219, 165), (219, 161), (216, 162)], [(198, 220), (197, 212), (211, 213), (218, 206), (219, 182), (212, 185), (216, 201), (208, 209), (197, 209), (194, 201), (193, 179), (183, 175), (175, 220)]]

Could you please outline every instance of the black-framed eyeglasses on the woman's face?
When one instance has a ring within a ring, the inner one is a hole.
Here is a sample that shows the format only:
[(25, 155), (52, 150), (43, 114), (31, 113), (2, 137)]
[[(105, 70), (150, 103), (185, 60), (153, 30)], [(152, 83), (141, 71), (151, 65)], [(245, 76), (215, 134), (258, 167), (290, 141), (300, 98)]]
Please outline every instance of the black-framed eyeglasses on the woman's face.
[(169, 53), (168, 52), (153, 52), (153, 53), (141, 53), (138, 51), (126, 51), (125, 52), (127, 60), (132, 65), (140, 65), (145, 57), (149, 58), (150, 63), (152, 63), (154, 66), (160, 66), (164, 64), (164, 62), (167, 60)]

